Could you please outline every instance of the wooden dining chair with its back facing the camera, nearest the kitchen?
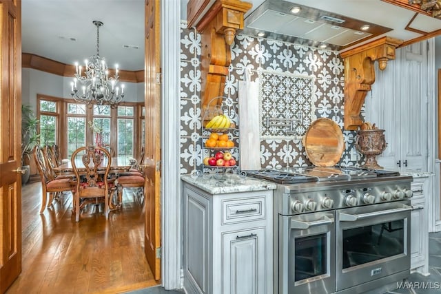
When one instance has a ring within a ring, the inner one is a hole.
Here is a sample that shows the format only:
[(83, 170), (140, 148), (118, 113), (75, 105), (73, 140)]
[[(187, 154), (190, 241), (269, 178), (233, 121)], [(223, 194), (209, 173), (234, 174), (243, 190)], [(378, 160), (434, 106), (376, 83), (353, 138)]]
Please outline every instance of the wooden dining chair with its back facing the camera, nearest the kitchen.
[[(81, 162), (76, 160), (77, 157), (81, 158)], [(76, 178), (80, 179), (76, 181), (74, 188), (75, 221), (79, 222), (80, 212), (86, 204), (102, 202), (107, 220), (110, 212), (110, 199), (115, 191), (114, 182), (108, 179), (112, 165), (112, 156), (109, 151), (93, 145), (80, 147), (72, 154), (71, 162)]]

